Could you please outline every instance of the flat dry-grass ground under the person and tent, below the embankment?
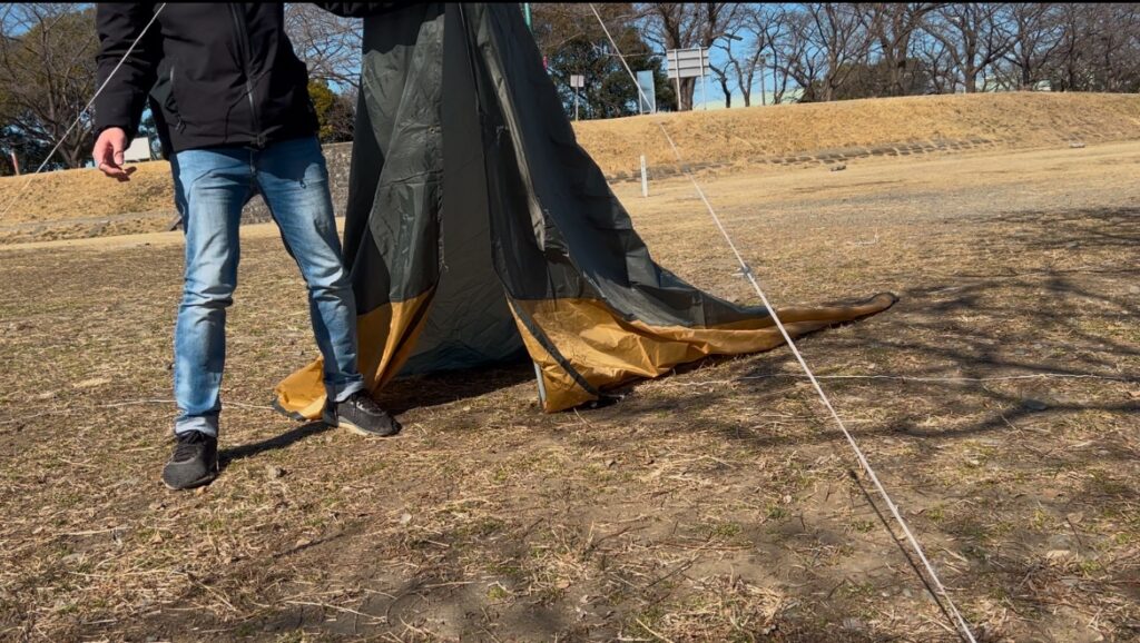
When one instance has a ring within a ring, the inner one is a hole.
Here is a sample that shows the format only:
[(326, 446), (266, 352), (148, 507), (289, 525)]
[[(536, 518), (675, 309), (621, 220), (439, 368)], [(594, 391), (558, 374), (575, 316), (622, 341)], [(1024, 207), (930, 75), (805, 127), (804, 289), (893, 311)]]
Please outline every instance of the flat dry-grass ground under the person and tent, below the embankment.
[[(1140, 143), (701, 176), (769, 299), (891, 291), (799, 342), (984, 641), (1140, 638)], [(683, 178), (654, 257), (755, 302)], [(787, 349), (542, 414), (529, 365), (299, 425), (315, 355), (244, 229), (221, 478), (158, 481), (179, 237), (0, 250), (0, 638), (954, 641)], [(852, 472), (855, 472), (854, 474)]]

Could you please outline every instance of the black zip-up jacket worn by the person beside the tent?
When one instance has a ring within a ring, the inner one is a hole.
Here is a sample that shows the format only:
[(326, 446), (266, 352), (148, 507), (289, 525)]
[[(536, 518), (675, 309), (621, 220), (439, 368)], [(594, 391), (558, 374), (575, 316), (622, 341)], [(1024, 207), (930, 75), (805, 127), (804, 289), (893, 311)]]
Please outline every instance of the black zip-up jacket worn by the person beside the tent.
[[(168, 153), (263, 147), (316, 135), (309, 74), (285, 34), (282, 3), (169, 2), (155, 18), (158, 5), (98, 5), (98, 87), (111, 81), (95, 101), (96, 131), (122, 128), (133, 138), (149, 98)], [(365, 16), (402, 3), (317, 5), (341, 16)]]

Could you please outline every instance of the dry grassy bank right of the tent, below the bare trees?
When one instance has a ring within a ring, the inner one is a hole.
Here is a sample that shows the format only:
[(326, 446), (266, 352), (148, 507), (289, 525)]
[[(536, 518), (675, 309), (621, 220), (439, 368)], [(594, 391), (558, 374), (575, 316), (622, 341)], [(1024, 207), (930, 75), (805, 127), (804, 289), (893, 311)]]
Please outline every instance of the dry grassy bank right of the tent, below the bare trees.
[(608, 174), (674, 163), (663, 121), (685, 161), (746, 165), (760, 158), (839, 148), (984, 139), (1000, 148), (1133, 140), (1140, 97), (990, 93), (777, 105), (583, 123), (578, 139)]

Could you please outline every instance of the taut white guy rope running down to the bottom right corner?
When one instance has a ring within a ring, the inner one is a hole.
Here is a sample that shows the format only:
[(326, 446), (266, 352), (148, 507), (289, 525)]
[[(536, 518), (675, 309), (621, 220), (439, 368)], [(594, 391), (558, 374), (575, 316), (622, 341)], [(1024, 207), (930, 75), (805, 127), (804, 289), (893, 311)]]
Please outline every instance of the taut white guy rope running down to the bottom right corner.
[[(589, 7), (594, 11), (594, 16), (597, 17), (597, 21), (602, 23), (602, 17), (597, 14), (597, 9), (594, 8), (594, 5), (592, 3)], [(621, 50), (618, 49), (618, 43), (613, 41), (612, 36), (610, 36), (610, 31), (605, 29), (604, 23), (602, 23), (602, 29), (605, 31), (605, 35), (606, 38), (609, 38), (610, 44), (613, 46), (613, 50), (618, 54), (619, 57), (621, 57), (622, 64), (625, 65), (625, 57), (621, 55)], [(633, 72), (629, 70), (629, 65), (625, 65), (625, 67), (626, 71), (630, 73), (630, 76), (633, 76)], [(635, 86), (637, 84), (636, 78), (634, 78), (634, 84)], [(679, 101), (681, 97), (677, 97), (677, 99)], [(658, 127), (661, 129), (661, 133), (665, 135), (666, 140), (669, 141), (669, 147), (673, 149), (673, 154), (674, 156), (676, 156), (677, 163), (681, 165), (681, 170), (685, 173), (686, 177), (689, 177), (690, 182), (693, 184), (693, 189), (697, 190), (697, 195), (700, 197), (701, 202), (705, 203), (705, 207), (708, 209), (709, 215), (712, 217), (712, 221), (716, 223), (716, 227), (719, 228), (720, 234), (724, 236), (725, 242), (727, 242), (728, 244), (728, 247), (732, 249), (733, 254), (736, 255), (736, 261), (740, 262), (740, 268), (743, 271), (744, 276), (748, 278), (749, 283), (752, 284), (752, 288), (756, 290), (756, 294), (759, 295), (760, 301), (764, 302), (764, 308), (767, 309), (768, 315), (772, 316), (772, 320), (776, 325), (776, 328), (780, 329), (780, 334), (783, 335), (784, 341), (788, 342), (788, 348), (790, 348), (792, 355), (796, 356), (796, 360), (804, 369), (804, 373), (807, 375), (807, 379), (812, 382), (812, 385), (815, 388), (815, 392), (819, 393), (820, 396), (820, 400), (823, 401), (823, 406), (826, 407), (828, 412), (831, 414), (831, 418), (836, 421), (836, 424), (839, 426), (839, 430), (847, 439), (847, 443), (850, 445), (852, 450), (855, 451), (855, 456), (858, 458), (860, 466), (863, 467), (863, 471), (866, 473), (868, 478), (870, 478), (871, 482), (874, 485), (876, 490), (879, 491), (880, 497), (882, 497), (883, 502), (887, 504), (887, 508), (890, 510), (890, 514), (895, 518), (895, 521), (898, 523), (899, 528), (903, 530), (903, 534), (906, 536), (906, 540), (910, 544), (911, 548), (914, 551), (919, 560), (922, 562), (922, 567), (926, 569), (926, 572), (929, 576), (929, 580), (934, 584), (934, 588), (937, 591), (937, 593), (940, 594), (940, 596), (936, 596), (936, 599), (942, 599), (945, 601), (946, 608), (948, 608), (948, 611), (953, 616), (953, 619), (955, 621), (954, 625), (961, 632), (962, 636), (969, 643), (976, 643), (977, 640), (974, 637), (974, 633), (970, 630), (969, 624), (966, 622), (966, 619), (962, 617), (961, 612), (959, 612), (958, 608), (954, 605), (954, 601), (950, 597), (950, 593), (946, 591), (946, 587), (942, 584), (942, 580), (938, 578), (938, 572), (935, 571), (934, 564), (931, 564), (930, 560), (927, 559), (926, 553), (922, 550), (922, 546), (914, 537), (914, 534), (911, 532), (910, 527), (906, 524), (906, 521), (903, 519), (902, 513), (898, 511), (898, 506), (895, 505), (895, 502), (890, 498), (890, 495), (887, 494), (887, 489), (882, 486), (882, 482), (879, 481), (879, 477), (878, 474), (876, 474), (874, 469), (868, 461), (866, 455), (863, 454), (863, 449), (860, 448), (858, 442), (855, 441), (854, 436), (852, 436), (850, 431), (847, 430), (847, 426), (844, 424), (842, 418), (840, 418), (839, 414), (836, 413), (836, 408), (831, 405), (831, 400), (828, 398), (828, 394), (823, 392), (823, 386), (820, 385), (820, 381), (815, 377), (815, 374), (813, 374), (812, 369), (807, 366), (807, 361), (805, 361), (804, 356), (800, 355), (799, 349), (796, 347), (796, 342), (792, 341), (791, 335), (788, 333), (788, 329), (784, 328), (783, 322), (780, 320), (780, 317), (776, 315), (775, 309), (768, 302), (767, 295), (765, 295), (764, 291), (760, 288), (760, 284), (759, 282), (756, 280), (756, 275), (752, 274), (751, 267), (748, 264), (747, 261), (744, 261), (743, 255), (740, 254), (740, 251), (736, 249), (736, 244), (732, 241), (732, 236), (728, 234), (728, 230), (725, 229), (724, 223), (720, 221), (720, 217), (717, 215), (716, 210), (712, 207), (712, 204), (709, 203), (708, 197), (705, 195), (705, 190), (701, 189), (700, 184), (697, 182), (697, 178), (693, 177), (692, 172), (689, 170), (689, 165), (686, 165), (684, 160), (682, 158), (681, 152), (677, 149), (677, 145), (673, 141), (673, 137), (669, 136), (669, 132), (665, 129), (663, 123), (658, 122)]]

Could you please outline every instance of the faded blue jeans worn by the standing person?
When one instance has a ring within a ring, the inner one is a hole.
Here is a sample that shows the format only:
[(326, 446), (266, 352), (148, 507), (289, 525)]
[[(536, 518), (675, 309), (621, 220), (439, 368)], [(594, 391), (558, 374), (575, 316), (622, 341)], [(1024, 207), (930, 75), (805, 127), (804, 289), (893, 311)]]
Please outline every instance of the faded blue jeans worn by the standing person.
[(286, 140), (264, 149), (189, 149), (174, 155), (171, 169), (186, 230), (186, 275), (174, 327), (174, 432), (218, 434), (226, 309), (237, 287), (238, 223), (255, 192), (264, 197), (309, 286), (329, 399), (342, 401), (364, 389), (357, 372), (356, 301), (317, 139)]

